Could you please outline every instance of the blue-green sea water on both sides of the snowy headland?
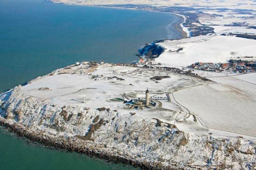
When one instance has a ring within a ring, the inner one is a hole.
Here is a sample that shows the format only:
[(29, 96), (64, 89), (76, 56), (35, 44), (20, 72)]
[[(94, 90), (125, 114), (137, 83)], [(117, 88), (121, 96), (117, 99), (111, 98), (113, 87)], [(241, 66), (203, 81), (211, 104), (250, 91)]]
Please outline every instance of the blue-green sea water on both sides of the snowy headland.
[[(0, 91), (76, 61), (131, 62), (146, 42), (180, 38), (177, 22), (164, 13), (0, 0)], [(0, 170), (13, 169), (126, 168), (32, 146), (0, 130)]]

